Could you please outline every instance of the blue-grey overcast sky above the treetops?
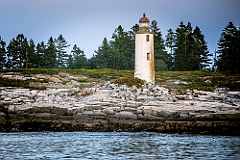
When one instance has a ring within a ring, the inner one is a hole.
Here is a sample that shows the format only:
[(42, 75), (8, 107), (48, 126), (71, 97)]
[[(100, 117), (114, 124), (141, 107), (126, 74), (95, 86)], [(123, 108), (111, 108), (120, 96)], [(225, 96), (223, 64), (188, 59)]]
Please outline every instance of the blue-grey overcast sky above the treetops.
[(0, 36), (8, 44), (24, 34), (37, 44), (62, 34), (69, 50), (77, 44), (90, 58), (118, 25), (129, 31), (144, 12), (163, 38), (181, 21), (199, 26), (213, 52), (228, 22), (239, 26), (240, 0), (0, 0)]

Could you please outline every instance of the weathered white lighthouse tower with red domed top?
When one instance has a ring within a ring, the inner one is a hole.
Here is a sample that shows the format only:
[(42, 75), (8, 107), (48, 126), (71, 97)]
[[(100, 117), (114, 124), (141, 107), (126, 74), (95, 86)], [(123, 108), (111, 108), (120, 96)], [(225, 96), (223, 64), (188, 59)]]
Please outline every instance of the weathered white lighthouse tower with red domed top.
[(144, 13), (139, 20), (139, 31), (135, 35), (134, 77), (154, 83), (154, 38), (150, 32), (149, 23)]

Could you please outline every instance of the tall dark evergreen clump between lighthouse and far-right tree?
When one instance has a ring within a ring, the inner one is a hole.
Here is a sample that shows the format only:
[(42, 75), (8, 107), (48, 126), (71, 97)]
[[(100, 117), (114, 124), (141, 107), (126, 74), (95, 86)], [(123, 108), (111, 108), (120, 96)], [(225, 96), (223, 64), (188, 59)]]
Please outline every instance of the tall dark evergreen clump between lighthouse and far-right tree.
[[(204, 70), (210, 65), (211, 54), (208, 51), (204, 35), (197, 26), (192, 29), (191, 23), (180, 23), (176, 29), (174, 45), (171, 43), (172, 33), (169, 32), (168, 46), (174, 47), (174, 70)], [(172, 48), (171, 48), (172, 49)]]

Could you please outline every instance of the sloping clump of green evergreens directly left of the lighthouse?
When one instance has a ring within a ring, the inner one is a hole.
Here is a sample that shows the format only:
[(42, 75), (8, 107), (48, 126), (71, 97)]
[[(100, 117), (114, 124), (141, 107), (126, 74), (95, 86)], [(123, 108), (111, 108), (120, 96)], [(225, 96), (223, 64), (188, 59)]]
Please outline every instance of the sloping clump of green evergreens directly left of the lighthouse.
[(134, 69), (135, 32), (125, 32), (121, 25), (115, 29), (112, 40), (103, 39), (102, 45), (89, 60), (89, 68), (113, 68), (119, 70)]

